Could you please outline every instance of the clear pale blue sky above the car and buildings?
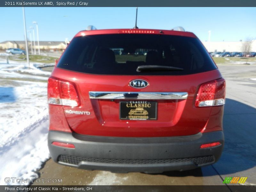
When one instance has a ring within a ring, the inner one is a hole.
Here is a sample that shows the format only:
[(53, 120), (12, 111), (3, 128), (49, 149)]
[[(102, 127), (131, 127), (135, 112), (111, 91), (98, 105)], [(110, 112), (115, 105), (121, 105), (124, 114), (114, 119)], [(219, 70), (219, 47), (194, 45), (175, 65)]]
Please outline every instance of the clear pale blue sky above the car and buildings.
[[(93, 25), (97, 29), (133, 28), (135, 7), (26, 7), (26, 25), (38, 22), (40, 41), (65, 41)], [(0, 8), (0, 42), (24, 40), (21, 7)], [(171, 29), (181, 26), (201, 41), (239, 41), (256, 38), (255, 7), (139, 7), (139, 28)], [(28, 34), (28, 38), (30, 35)], [(33, 33), (32, 33), (33, 39)], [(37, 40), (37, 36), (36, 36)]]

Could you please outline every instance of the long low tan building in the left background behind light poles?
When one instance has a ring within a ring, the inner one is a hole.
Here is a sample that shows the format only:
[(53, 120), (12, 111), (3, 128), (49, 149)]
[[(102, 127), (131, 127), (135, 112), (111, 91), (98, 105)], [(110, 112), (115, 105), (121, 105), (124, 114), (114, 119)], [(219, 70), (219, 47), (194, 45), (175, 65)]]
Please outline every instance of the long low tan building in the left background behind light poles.
[[(38, 44), (36, 42), (36, 50), (38, 49)], [(35, 49), (34, 42), (32, 41), (32, 48)], [(0, 50), (9, 49), (9, 48), (20, 48), (25, 50), (26, 43), (25, 41), (4, 41), (0, 43)], [(64, 41), (39, 41), (39, 48), (42, 51), (63, 51), (66, 49), (66, 43)], [(28, 41), (28, 49), (31, 51), (31, 42)]]

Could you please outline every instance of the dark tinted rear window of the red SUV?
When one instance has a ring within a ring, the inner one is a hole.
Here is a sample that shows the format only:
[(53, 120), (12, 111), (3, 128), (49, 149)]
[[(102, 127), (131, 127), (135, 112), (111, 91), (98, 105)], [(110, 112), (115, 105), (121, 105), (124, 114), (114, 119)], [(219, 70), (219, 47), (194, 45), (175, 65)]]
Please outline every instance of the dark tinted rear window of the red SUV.
[[(136, 71), (144, 65), (183, 70)], [(188, 75), (217, 68), (198, 39), (151, 34), (75, 37), (57, 67), (100, 75)]]

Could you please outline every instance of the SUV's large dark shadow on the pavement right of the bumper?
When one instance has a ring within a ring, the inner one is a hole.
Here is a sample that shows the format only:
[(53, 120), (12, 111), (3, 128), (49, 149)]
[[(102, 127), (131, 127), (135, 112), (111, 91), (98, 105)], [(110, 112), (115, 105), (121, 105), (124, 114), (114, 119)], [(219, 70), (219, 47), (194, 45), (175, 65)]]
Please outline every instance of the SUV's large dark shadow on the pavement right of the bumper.
[[(256, 165), (256, 109), (236, 100), (226, 99), (223, 117), (224, 150), (214, 169), (198, 168), (184, 172), (164, 172), (172, 177), (213, 176), (246, 171)], [(238, 173), (239, 174), (239, 173)], [(239, 175), (237, 175), (239, 176)]]

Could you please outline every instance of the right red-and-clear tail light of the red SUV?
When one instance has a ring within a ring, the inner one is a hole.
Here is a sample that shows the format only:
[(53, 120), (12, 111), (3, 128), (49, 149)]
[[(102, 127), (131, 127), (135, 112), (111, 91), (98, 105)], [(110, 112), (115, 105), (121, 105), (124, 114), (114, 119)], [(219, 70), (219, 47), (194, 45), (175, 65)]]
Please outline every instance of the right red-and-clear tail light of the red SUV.
[(202, 84), (196, 95), (196, 107), (224, 105), (225, 89), (226, 84), (223, 78)]

